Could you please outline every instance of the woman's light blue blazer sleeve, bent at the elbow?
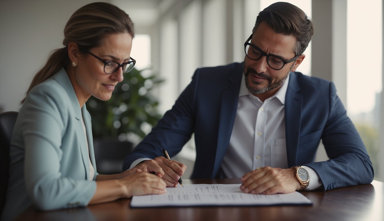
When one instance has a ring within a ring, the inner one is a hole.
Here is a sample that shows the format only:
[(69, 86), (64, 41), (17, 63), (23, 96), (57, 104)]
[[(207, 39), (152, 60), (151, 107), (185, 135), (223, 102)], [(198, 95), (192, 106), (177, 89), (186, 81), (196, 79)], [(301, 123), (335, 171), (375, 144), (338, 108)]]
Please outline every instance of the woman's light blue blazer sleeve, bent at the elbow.
[(36, 86), (23, 104), (24, 180), (33, 205), (41, 210), (86, 206), (96, 191), (94, 181), (61, 176), (60, 162), (68, 153), (60, 147), (71, 108), (63, 93), (53, 85)]

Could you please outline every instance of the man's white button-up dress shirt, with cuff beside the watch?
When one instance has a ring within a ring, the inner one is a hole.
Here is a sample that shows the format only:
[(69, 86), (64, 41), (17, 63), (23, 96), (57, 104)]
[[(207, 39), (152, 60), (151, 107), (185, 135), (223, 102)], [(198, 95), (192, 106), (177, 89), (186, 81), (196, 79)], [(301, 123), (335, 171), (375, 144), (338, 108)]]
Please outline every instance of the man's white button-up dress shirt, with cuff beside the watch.
[[(243, 76), (242, 82), (245, 77)], [(262, 102), (242, 83), (227, 152), (221, 164), (225, 177), (240, 178), (259, 167), (288, 168), (285, 142), (285, 94), (289, 76), (280, 89)], [(310, 173), (306, 190), (321, 186), (317, 173)]]

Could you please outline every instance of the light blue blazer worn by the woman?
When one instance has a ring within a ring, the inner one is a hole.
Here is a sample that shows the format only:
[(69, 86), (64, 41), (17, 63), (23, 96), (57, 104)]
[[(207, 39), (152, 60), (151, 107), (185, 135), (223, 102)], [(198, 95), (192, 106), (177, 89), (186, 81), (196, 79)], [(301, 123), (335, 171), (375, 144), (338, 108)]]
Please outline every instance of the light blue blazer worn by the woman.
[[(89, 157), (95, 170), (91, 180)], [(13, 129), (9, 175), (2, 220), (15, 218), (30, 205), (41, 210), (86, 206), (93, 197), (98, 173), (91, 116), (85, 104), (80, 109), (64, 68), (26, 97)]]

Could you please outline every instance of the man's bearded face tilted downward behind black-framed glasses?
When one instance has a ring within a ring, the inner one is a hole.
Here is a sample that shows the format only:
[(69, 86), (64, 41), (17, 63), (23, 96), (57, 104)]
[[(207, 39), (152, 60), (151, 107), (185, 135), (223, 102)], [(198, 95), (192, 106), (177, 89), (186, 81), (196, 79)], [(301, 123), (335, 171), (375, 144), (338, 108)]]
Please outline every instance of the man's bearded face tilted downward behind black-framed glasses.
[[(295, 36), (275, 33), (265, 22), (260, 23), (250, 43), (264, 53), (278, 56), (286, 61), (295, 57)], [(258, 60), (245, 56), (244, 75), (247, 89), (253, 95), (265, 100), (276, 93), (290, 71), (295, 71), (304, 57), (305, 55), (302, 54), (296, 61), (285, 64), (280, 70), (275, 70), (268, 65), (266, 56)]]

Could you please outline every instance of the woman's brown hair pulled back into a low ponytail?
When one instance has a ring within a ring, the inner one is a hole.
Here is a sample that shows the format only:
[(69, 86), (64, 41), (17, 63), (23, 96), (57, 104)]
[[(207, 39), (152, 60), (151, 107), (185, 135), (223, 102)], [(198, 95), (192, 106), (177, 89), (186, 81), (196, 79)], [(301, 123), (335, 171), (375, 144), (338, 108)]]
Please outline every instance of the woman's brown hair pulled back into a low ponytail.
[[(95, 2), (79, 8), (73, 13), (64, 28), (64, 48), (52, 51), (43, 68), (36, 73), (26, 95), (31, 89), (50, 78), (61, 68), (70, 65), (68, 49), (70, 42), (76, 42), (79, 50), (89, 50), (101, 45), (106, 36), (116, 33), (129, 33), (135, 35), (133, 23), (129, 15), (120, 8), (105, 2)], [(25, 98), (21, 101), (23, 103)]]

